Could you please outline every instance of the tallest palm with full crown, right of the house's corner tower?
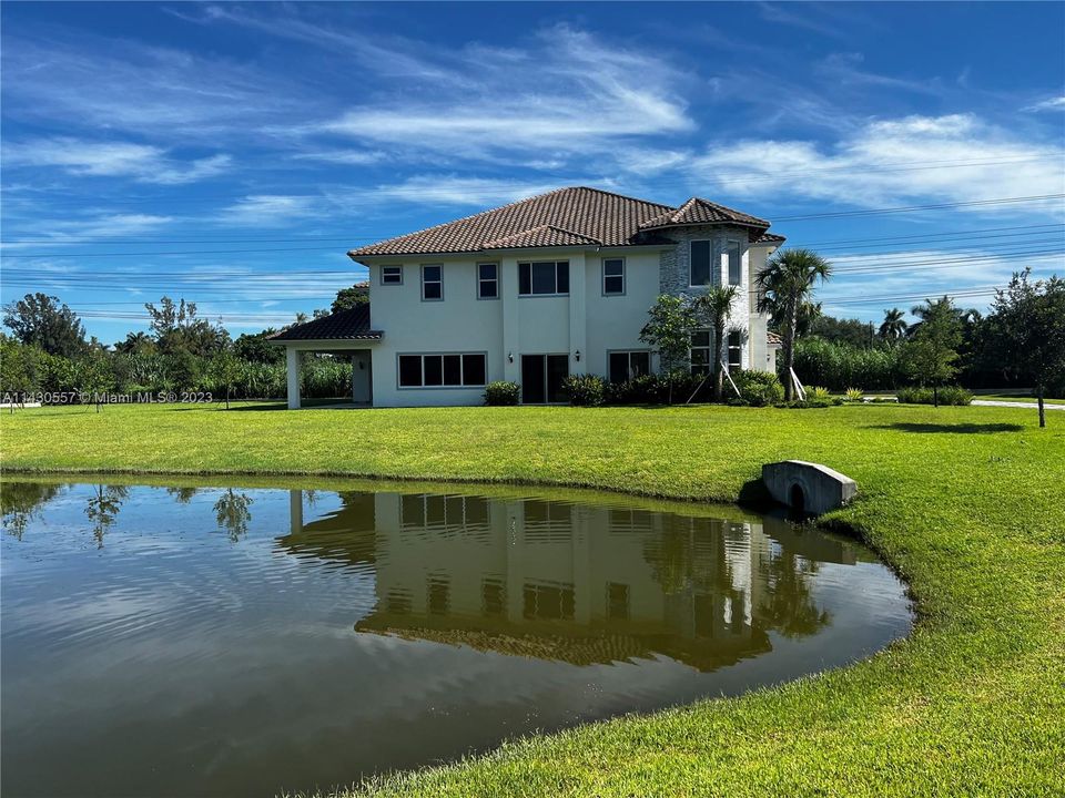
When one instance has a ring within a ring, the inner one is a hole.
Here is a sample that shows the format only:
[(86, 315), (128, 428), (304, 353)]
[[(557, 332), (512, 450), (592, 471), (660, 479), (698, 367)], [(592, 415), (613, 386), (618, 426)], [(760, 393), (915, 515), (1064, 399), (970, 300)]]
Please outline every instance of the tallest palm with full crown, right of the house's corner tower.
[(758, 309), (771, 313), (779, 320), (784, 350), (784, 396), (794, 398), (791, 372), (795, 365), (795, 334), (799, 311), (810, 301), (813, 284), (832, 276), (832, 264), (812, 249), (784, 249), (765, 262), (759, 273)]

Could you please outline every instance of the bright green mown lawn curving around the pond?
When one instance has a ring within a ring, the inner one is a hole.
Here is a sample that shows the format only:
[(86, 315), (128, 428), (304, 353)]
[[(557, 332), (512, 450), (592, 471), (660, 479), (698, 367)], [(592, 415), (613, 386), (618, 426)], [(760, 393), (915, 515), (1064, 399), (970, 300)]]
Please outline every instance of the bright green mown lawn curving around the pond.
[[(822, 462), (828, 521), (911, 584), (920, 622), (854, 666), (504, 745), (365, 787), (416, 796), (1065, 794), (1065, 418), (1013, 408), (41, 409), (0, 416), (19, 470), (524, 481), (734, 500)], [(293, 728), (298, 735), (300, 729)]]

